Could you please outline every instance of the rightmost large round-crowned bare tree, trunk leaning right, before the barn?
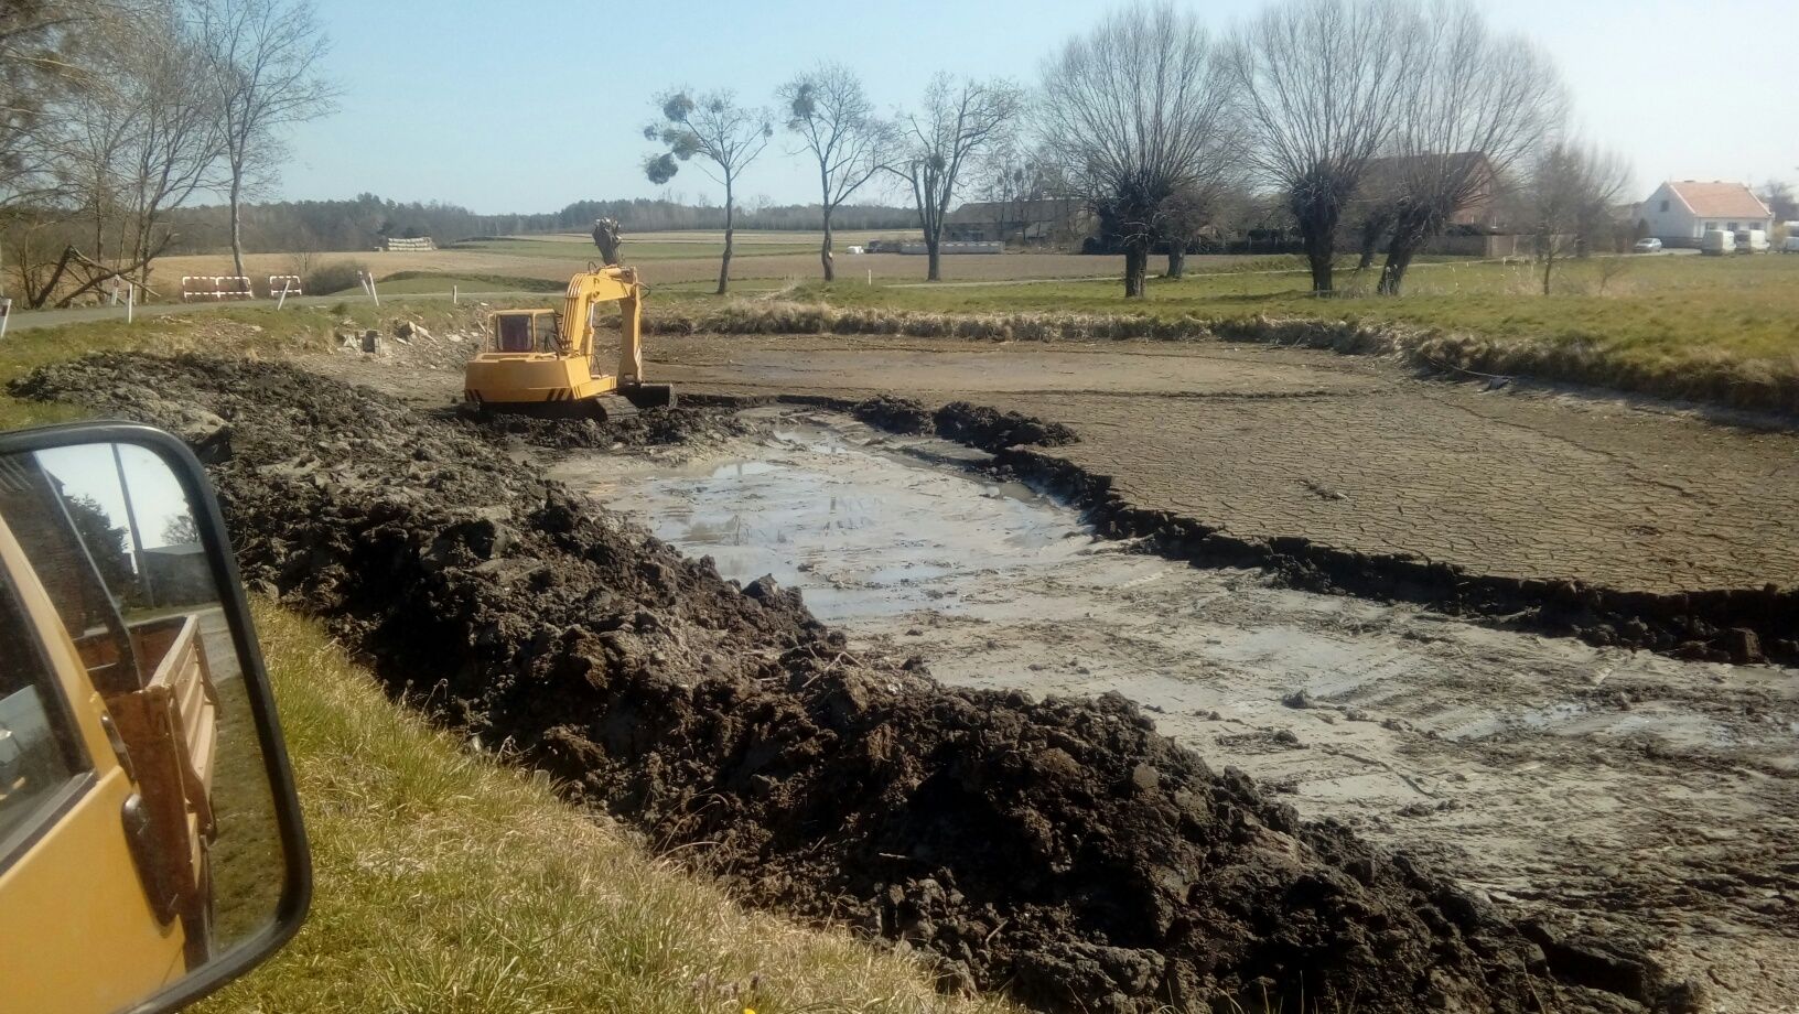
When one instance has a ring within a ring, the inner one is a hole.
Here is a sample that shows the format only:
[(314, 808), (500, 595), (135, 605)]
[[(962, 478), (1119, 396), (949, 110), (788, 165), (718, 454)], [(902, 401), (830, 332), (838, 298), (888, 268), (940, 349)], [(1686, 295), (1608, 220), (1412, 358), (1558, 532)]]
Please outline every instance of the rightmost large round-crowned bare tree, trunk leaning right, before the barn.
[(1560, 124), (1567, 95), (1551, 58), (1522, 36), (1495, 36), (1468, 0), (1425, 16), (1394, 131), (1398, 214), (1380, 291), (1400, 295), (1412, 257)]

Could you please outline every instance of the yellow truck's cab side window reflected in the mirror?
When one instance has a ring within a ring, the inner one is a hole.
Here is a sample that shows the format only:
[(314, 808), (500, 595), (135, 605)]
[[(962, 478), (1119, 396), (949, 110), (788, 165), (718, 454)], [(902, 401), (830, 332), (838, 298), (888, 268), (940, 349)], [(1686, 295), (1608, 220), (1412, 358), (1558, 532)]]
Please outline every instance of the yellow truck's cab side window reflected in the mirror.
[(61, 690), (11, 584), (0, 586), (0, 859), (86, 769)]

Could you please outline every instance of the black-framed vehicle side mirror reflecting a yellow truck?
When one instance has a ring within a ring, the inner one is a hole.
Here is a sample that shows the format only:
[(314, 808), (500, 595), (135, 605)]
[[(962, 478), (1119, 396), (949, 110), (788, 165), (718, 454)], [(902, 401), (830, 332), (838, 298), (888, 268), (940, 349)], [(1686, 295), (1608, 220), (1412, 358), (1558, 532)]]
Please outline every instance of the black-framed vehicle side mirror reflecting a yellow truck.
[(130, 422), (0, 435), (0, 1010), (175, 1010), (311, 861), (205, 471)]

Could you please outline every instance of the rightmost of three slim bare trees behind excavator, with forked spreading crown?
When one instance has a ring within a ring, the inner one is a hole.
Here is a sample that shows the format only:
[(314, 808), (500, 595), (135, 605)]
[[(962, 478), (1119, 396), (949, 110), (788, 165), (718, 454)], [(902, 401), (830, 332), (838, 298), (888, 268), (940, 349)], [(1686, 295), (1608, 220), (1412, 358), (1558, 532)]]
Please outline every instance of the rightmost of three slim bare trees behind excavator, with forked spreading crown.
[(925, 230), (926, 279), (943, 280), (943, 223), (980, 160), (1000, 147), (1024, 110), (1009, 81), (955, 81), (937, 74), (919, 111), (900, 115), (900, 153), (891, 165), (912, 191)]

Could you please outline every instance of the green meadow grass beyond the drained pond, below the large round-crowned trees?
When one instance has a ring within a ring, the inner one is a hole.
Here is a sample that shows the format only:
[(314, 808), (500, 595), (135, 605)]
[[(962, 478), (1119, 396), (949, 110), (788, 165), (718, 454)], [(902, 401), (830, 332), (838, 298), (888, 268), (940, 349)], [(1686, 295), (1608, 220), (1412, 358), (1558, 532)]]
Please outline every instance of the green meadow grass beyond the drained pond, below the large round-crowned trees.
[[(1574, 261), (1556, 273), (1556, 291), (1547, 297), (1542, 275), (1529, 264), (1419, 264), (1400, 298), (1371, 295), (1373, 273), (1346, 273), (1342, 295), (1315, 298), (1302, 273), (1254, 268), (1155, 279), (1142, 302), (1126, 302), (1117, 282), (1092, 280), (873, 288), (808, 282), (786, 289), (781, 300), (912, 316), (894, 325), (912, 334), (1006, 336), (1045, 333), (1049, 324), (1047, 333), (1070, 338), (1214, 329), (1234, 336), (1232, 322), (1326, 320), (1389, 331), (1382, 342), (1349, 345), (1396, 351), (1427, 367), (1799, 412), (1799, 257)], [(1204, 271), (1204, 259), (1189, 262), (1189, 270)], [(730, 316), (694, 291), (666, 293), (664, 302), (684, 313)], [(761, 327), (754, 306), (739, 315), (747, 331)], [(934, 325), (928, 315), (957, 320)]]

